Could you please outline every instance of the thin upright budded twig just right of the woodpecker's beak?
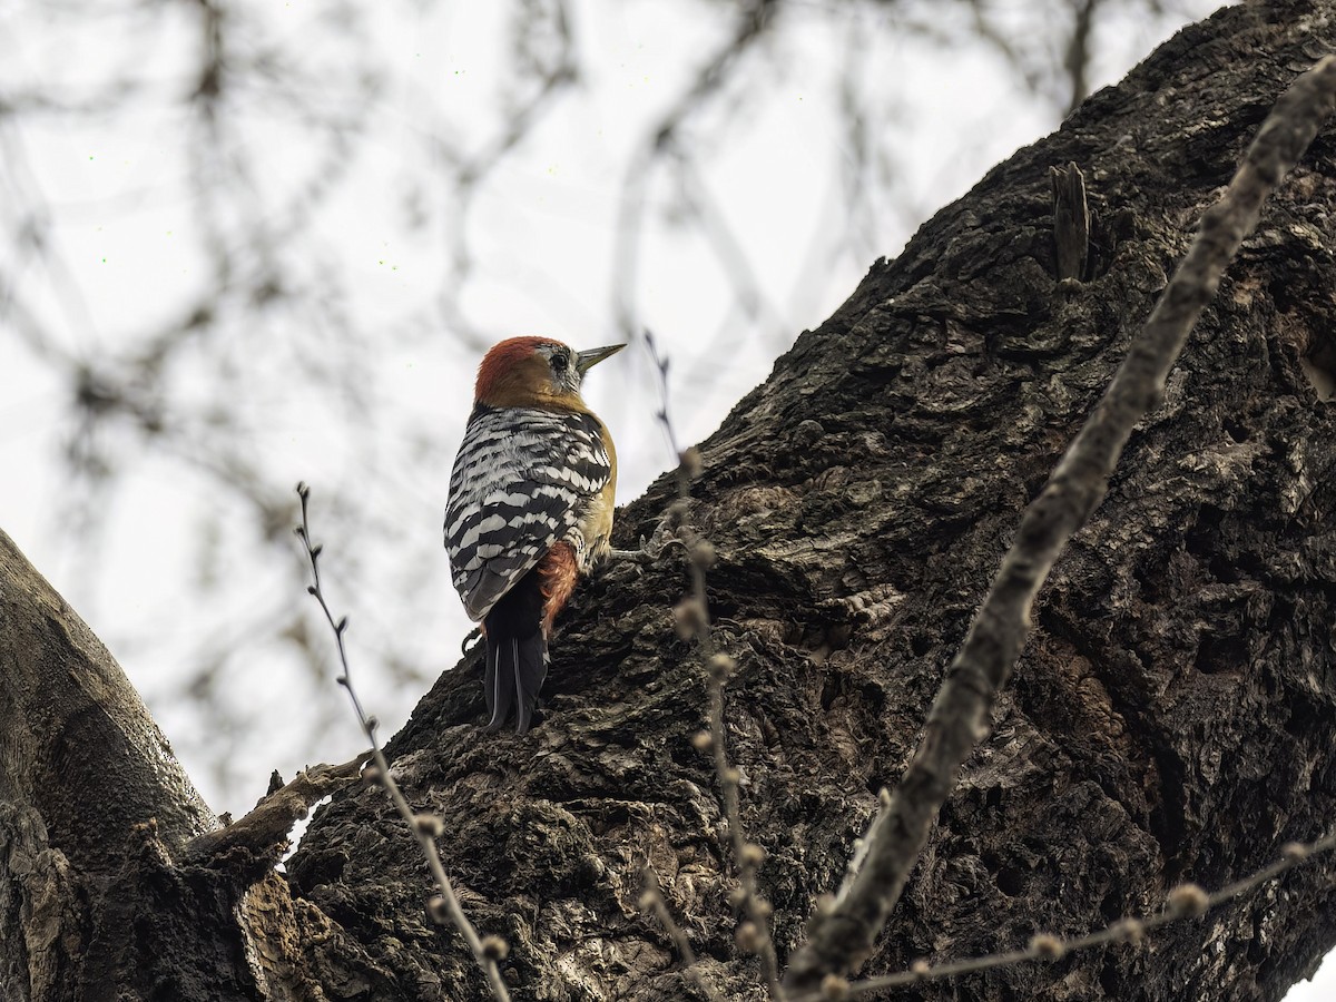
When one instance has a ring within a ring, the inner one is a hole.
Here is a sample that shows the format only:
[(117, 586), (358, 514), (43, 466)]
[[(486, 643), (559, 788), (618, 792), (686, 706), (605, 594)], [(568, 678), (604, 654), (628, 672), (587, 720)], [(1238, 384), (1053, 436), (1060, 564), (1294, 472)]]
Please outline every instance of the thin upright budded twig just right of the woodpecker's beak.
[[(660, 398), (663, 401), (655, 415), (668, 434), (668, 442), (677, 456), (677, 514), (684, 516), (691, 501), (691, 481), (700, 476), (700, 453), (695, 449), (680, 450), (673, 432), (672, 417), (668, 413), (668, 358), (655, 347), (653, 335), (645, 331), (645, 346), (659, 373)], [(705, 661), (707, 684), (709, 687), (709, 731), (696, 735), (696, 747), (708, 751), (715, 763), (715, 775), (724, 799), (724, 816), (728, 819), (728, 834), (732, 839), (733, 862), (737, 867), (739, 894), (733, 904), (747, 916), (737, 927), (736, 941), (740, 950), (760, 957), (766, 987), (771, 998), (784, 999), (784, 987), (779, 979), (779, 959), (775, 955), (775, 942), (770, 935), (771, 904), (766, 900), (756, 880), (756, 870), (766, 858), (764, 850), (747, 840), (743, 830), (739, 783), (741, 774), (728, 762), (727, 732), (724, 729), (724, 685), (737, 668), (737, 663), (727, 653), (715, 649), (713, 633), (709, 628), (709, 599), (705, 593), (705, 570), (715, 562), (715, 548), (708, 540), (700, 538), (688, 526), (677, 529), (687, 546), (687, 562), (691, 566), (692, 591), (676, 609), (679, 631), (684, 637), (697, 637), (700, 653)], [(669, 930), (671, 934), (671, 930)], [(685, 955), (684, 958), (685, 959)], [(691, 963), (691, 961), (687, 961)]]

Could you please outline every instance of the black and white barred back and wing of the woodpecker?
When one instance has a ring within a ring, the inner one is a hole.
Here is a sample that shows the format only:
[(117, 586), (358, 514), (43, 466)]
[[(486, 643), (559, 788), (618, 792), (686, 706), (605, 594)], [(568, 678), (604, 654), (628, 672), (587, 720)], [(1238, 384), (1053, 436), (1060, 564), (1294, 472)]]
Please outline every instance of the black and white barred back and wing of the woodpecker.
[(611, 476), (591, 414), (474, 409), (445, 509), (454, 587), (474, 623), (553, 544), (573, 534), (584, 506)]

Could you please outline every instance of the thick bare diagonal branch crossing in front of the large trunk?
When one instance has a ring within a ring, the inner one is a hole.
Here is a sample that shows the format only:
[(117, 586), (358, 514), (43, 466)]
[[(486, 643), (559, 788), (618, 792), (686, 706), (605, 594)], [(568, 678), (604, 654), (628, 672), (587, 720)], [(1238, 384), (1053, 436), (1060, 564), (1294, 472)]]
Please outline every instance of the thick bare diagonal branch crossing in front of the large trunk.
[(827, 971), (847, 975), (871, 954), (961, 766), (987, 733), (993, 699), (1029, 633), (1035, 595), (1067, 540), (1104, 498), (1133, 426), (1160, 402), (1188, 333), (1257, 224), (1267, 196), (1307, 150), (1333, 103), (1336, 57), (1328, 56), (1276, 102), (1225, 194), (1202, 215), (1197, 239), (1094, 414), (1026, 509), (933, 703), (914, 760), (868, 831), (867, 858), (835, 906), (814, 921), (808, 942), (794, 955), (791, 986), (814, 989)]

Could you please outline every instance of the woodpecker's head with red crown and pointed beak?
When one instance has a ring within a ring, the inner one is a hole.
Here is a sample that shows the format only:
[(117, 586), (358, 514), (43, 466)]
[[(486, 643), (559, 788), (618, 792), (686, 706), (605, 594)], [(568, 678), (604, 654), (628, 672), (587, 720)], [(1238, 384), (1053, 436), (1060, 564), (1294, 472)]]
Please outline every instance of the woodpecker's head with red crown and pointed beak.
[(582, 410), (584, 374), (624, 347), (576, 351), (552, 338), (509, 338), (493, 345), (478, 366), (474, 401), (489, 407), (549, 405)]

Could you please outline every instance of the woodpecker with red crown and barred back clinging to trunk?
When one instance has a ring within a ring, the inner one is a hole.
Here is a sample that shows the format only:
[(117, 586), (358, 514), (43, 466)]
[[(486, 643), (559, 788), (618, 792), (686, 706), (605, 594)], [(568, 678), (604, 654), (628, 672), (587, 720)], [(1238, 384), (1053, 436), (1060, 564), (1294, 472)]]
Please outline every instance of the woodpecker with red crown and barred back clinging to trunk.
[(469, 619), (482, 624), (488, 729), (529, 729), (552, 621), (609, 550), (617, 453), (580, 398), (591, 366), (625, 345), (573, 351), (550, 338), (492, 347), (450, 474), (445, 549)]

